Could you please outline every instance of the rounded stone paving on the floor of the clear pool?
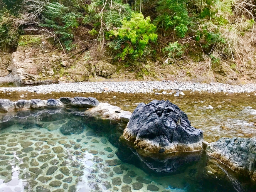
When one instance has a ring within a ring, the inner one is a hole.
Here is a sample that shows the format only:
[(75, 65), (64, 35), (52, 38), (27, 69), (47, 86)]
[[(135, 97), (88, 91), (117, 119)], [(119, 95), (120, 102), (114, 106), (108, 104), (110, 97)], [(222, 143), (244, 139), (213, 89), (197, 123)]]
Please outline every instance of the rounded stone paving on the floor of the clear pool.
[[(10, 170), (18, 168), (17, 185), (22, 182), (25, 192), (76, 192), (84, 187), (90, 191), (164, 190), (155, 183), (155, 188), (148, 186), (151, 181), (143, 179), (146, 173), (122, 163), (114, 153), (116, 147), (102, 134), (89, 128), (82, 132), (82, 127), (77, 130), (81, 134), (64, 136), (59, 128), (52, 129), (56, 121), (38, 124), (45, 128), (31, 125), (24, 130), (13, 125), (0, 131), (0, 180), (10, 182), (14, 175)], [(64, 128), (65, 134), (72, 131)], [(137, 177), (141, 173), (142, 179)]]

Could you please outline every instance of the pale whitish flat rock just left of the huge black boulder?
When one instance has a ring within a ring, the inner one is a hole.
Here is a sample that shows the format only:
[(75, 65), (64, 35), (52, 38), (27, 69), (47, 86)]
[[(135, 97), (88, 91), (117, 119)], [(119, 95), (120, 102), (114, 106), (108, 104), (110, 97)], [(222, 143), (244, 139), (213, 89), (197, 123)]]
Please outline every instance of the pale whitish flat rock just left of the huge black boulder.
[(116, 121), (129, 122), (131, 112), (123, 111), (120, 107), (108, 103), (100, 103), (98, 106), (89, 109), (86, 113), (100, 113), (105, 118), (111, 118)]

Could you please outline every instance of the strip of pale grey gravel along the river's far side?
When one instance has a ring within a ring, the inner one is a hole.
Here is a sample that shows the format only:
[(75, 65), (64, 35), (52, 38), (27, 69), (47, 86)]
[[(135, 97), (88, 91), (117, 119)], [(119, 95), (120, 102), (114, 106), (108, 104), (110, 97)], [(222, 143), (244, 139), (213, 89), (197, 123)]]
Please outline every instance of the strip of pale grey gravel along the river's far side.
[[(27, 91), (36, 93), (77, 92), (102, 93), (113, 91), (120, 93), (155, 93), (171, 94), (175, 91), (207, 91), (227, 93), (251, 93), (256, 91), (256, 84), (229, 85), (222, 83), (191, 83), (178, 81), (125, 81), (125, 82), (84, 82), (68, 84), (48, 84), (32, 87), (0, 88), (1, 92)], [(163, 91), (163, 92), (162, 92)]]

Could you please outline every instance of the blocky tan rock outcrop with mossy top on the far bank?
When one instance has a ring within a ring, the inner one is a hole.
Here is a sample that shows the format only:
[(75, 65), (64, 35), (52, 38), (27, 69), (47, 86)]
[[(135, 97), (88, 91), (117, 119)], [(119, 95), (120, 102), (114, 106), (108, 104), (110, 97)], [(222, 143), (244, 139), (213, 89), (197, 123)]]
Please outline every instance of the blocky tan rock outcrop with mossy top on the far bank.
[(11, 60), (15, 80), (20, 84), (37, 84), (46, 79), (54, 81), (53, 66), (59, 62), (59, 57), (55, 54), (57, 52), (54, 52), (54, 48), (42, 36), (21, 36)]

